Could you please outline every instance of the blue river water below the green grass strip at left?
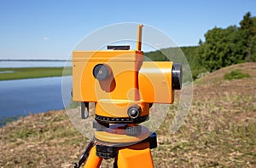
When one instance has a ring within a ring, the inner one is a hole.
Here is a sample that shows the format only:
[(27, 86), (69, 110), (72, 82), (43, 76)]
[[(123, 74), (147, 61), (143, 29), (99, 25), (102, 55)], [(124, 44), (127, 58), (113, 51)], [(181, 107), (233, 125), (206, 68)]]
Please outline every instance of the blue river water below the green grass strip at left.
[(0, 119), (64, 108), (61, 77), (0, 81), (0, 94)]

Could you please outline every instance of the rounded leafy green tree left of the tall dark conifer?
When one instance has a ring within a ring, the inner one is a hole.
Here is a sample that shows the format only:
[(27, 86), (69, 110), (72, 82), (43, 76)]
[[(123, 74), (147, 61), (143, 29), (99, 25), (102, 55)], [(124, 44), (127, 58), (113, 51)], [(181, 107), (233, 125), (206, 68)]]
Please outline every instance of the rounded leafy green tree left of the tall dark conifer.
[(241, 62), (244, 59), (241, 36), (244, 35), (238, 33), (237, 26), (214, 27), (205, 34), (206, 42), (201, 43), (199, 63), (212, 72)]

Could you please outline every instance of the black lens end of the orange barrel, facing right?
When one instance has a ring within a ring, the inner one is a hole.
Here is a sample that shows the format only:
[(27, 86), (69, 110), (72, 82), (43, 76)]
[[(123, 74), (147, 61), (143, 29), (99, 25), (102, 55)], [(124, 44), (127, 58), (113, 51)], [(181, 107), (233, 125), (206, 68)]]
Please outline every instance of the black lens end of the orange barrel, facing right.
[(172, 65), (172, 90), (181, 90), (183, 83), (183, 67), (180, 63)]

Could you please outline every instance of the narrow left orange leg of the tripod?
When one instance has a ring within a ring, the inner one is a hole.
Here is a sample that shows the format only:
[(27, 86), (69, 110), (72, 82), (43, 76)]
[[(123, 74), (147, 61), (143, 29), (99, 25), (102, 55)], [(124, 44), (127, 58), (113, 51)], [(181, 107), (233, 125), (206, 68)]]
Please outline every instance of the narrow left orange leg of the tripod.
[(102, 158), (96, 156), (96, 146), (90, 149), (90, 154), (84, 168), (99, 168), (102, 163)]

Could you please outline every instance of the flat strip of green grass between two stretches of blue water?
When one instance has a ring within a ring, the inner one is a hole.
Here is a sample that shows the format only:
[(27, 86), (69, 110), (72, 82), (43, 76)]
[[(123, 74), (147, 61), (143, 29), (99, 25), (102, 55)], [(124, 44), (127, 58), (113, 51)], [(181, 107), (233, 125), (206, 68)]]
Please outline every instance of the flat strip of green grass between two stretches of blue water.
[[(67, 67), (65, 75), (72, 74), (72, 67)], [(1, 73), (3, 72), (3, 73)], [(0, 80), (14, 80), (22, 78), (61, 77), (63, 67), (22, 67), (0, 68)]]

